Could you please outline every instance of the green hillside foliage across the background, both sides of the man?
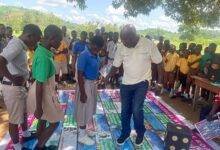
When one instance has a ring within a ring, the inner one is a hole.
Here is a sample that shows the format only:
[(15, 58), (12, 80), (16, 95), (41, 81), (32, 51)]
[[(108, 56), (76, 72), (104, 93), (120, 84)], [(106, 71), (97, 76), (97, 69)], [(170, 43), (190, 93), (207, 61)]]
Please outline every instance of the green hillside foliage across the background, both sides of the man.
[[(42, 30), (49, 24), (55, 24), (60, 27), (65, 25), (68, 28), (68, 33), (70, 33), (71, 30), (76, 30), (78, 32), (78, 36), (81, 31), (94, 32), (95, 29), (100, 28), (102, 25), (100, 22), (89, 22), (80, 25), (72, 24), (53, 14), (11, 6), (0, 6), (0, 23), (11, 26), (14, 29), (14, 34), (16, 36), (21, 33), (23, 26), (28, 23), (37, 24)], [(119, 27), (116, 24), (106, 24), (104, 26), (107, 32), (119, 31)], [(185, 34), (188, 32), (192, 34), (187, 35), (187, 38), (181, 37), (183, 33)], [(214, 42), (218, 45), (217, 51), (220, 53), (220, 31), (216, 30), (197, 30), (197, 28), (185, 25), (180, 27), (179, 33), (173, 33), (163, 29), (146, 29), (140, 30), (138, 33), (143, 36), (150, 35), (154, 39), (158, 39), (158, 37), (162, 35), (165, 39), (169, 39), (171, 43), (177, 47), (181, 42), (195, 42), (202, 44), (203, 47), (208, 46), (211, 42)], [(191, 38), (190, 36), (194, 37)]]

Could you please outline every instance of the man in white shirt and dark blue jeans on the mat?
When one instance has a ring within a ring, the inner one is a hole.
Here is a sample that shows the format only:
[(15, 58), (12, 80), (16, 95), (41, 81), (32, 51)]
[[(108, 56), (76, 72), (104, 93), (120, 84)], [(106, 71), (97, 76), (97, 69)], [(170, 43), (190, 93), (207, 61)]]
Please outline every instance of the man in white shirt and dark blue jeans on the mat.
[(123, 64), (124, 75), (120, 88), (122, 132), (117, 143), (122, 145), (129, 138), (130, 120), (133, 115), (134, 128), (137, 132), (135, 144), (140, 146), (146, 130), (143, 104), (151, 80), (151, 62), (161, 64), (162, 56), (152, 41), (137, 35), (133, 25), (125, 25), (120, 37), (122, 44), (118, 45), (113, 67), (106, 77), (108, 80), (114, 76), (117, 69)]

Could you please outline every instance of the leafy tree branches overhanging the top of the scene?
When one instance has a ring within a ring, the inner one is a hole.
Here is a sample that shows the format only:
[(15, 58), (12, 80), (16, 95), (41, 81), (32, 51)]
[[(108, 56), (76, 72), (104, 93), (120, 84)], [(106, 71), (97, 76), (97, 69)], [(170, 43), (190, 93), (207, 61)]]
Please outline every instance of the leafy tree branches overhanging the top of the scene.
[[(86, 8), (86, 0), (67, 1)], [(220, 23), (220, 0), (113, 0), (112, 5), (115, 8), (123, 6), (125, 16), (148, 15), (160, 6), (167, 16), (188, 26), (213, 27)]]

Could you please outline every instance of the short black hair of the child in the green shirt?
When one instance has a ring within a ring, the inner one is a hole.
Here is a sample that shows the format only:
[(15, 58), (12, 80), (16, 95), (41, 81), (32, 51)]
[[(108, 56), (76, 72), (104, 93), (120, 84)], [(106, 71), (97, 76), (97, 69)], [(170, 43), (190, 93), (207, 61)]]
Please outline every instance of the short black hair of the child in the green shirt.
[(44, 38), (58, 37), (62, 39), (62, 30), (56, 25), (48, 25), (44, 30)]

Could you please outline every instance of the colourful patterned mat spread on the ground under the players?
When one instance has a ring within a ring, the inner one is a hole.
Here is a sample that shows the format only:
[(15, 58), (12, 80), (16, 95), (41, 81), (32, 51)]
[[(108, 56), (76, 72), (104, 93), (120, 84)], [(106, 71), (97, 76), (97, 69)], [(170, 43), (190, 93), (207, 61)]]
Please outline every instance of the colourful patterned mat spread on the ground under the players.
[[(59, 99), (61, 107), (65, 112), (65, 121), (60, 123), (53, 136), (47, 142), (48, 149), (51, 150), (133, 150), (135, 132), (132, 131), (131, 138), (123, 145), (117, 146), (116, 139), (120, 135), (121, 119), (120, 119), (120, 96), (119, 90), (100, 90), (97, 97), (97, 113), (94, 116), (94, 124), (90, 125), (91, 130), (95, 131), (95, 145), (86, 146), (77, 143), (76, 120), (74, 119), (75, 109), (75, 92), (59, 91)], [(175, 114), (170, 108), (158, 100), (153, 93), (148, 92), (144, 102), (144, 119), (146, 133), (144, 144), (138, 149), (162, 150), (164, 148), (163, 140), (165, 136), (166, 125), (168, 122), (174, 122), (185, 125), (181, 116)], [(37, 120), (33, 116), (29, 117), (31, 130), (36, 130)], [(133, 128), (133, 122), (131, 121)], [(24, 143), (27, 149), (33, 149), (37, 143), (36, 139)], [(11, 142), (6, 145), (7, 150), (11, 150)], [(204, 140), (197, 134), (193, 133), (191, 149), (194, 150), (210, 150)]]

